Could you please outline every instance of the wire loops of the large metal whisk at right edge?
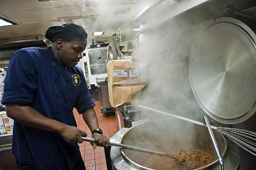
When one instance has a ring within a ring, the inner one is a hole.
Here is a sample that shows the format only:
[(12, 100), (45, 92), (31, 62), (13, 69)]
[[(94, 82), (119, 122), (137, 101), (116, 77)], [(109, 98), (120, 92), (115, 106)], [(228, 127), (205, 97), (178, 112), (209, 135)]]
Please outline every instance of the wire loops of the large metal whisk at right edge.
[[(218, 127), (217, 132), (232, 140), (235, 144), (256, 156), (256, 133), (237, 128)], [(254, 141), (254, 142), (253, 142)]]

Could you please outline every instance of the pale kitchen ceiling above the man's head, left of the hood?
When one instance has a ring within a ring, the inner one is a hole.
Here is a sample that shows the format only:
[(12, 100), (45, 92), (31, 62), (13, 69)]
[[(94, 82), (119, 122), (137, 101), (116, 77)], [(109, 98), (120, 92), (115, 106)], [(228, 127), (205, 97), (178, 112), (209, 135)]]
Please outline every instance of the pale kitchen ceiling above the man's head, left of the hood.
[(116, 28), (123, 35), (135, 34), (136, 15), (155, 0), (0, 0), (0, 17), (17, 25), (0, 27), (0, 38), (44, 35), (48, 27), (74, 22), (92, 32), (112, 37)]

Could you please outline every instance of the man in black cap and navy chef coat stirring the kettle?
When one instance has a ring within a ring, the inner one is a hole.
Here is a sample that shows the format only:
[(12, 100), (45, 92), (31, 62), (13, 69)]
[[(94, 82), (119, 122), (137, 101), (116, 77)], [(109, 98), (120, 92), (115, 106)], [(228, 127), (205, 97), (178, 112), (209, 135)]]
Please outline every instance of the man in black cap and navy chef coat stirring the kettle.
[[(109, 139), (99, 129), (82, 70), (75, 66), (87, 45), (76, 24), (50, 27), (52, 47), (23, 48), (11, 56), (2, 104), (15, 120), (12, 154), (18, 170), (85, 170), (73, 107), (83, 115), (98, 146)], [(93, 144), (95, 147), (95, 144)]]

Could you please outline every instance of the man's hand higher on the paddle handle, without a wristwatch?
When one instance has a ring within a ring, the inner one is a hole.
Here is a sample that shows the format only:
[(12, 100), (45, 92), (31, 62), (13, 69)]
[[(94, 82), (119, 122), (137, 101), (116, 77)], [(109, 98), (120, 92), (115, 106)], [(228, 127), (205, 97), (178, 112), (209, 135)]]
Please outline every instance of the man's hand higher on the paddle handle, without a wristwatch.
[(81, 131), (80, 129), (76, 128), (75, 126), (67, 125), (63, 130), (60, 132), (62, 138), (68, 143), (82, 143), (82, 137), (86, 137), (86, 133)]

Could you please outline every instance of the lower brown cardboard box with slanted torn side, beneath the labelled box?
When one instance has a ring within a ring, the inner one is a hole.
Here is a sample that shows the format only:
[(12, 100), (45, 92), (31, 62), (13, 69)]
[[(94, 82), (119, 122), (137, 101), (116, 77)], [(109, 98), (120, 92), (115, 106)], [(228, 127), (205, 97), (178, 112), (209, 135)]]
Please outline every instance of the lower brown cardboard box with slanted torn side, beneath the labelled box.
[(109, 101), (112, 107), (131, 103), (133, 95), (142, 90), (145, 85), (110, 85), (108, 84)]

